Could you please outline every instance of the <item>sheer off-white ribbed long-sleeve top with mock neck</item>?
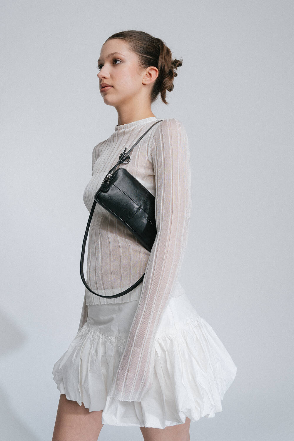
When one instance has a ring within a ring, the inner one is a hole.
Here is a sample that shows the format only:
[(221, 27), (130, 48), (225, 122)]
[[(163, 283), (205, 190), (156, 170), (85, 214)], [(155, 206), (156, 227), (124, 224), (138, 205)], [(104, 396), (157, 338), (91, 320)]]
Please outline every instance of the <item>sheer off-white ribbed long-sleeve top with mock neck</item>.
[[(84, 191), (90, 211), (94, 194), (125, 147), (134, 145), (156, 117), (115, 126), (107, 140), (94, 147), (92, 178)], [(152, 385), (154, 337), (160, 318), (178, 282), (186, 249), (191, 212), (190, 152), (185, 127), (175, 118), (157, 123), (134, 147), (131, 160), (120, 164), (155, 196), (157, 234), (151, 252), (119, 220), (96, 205), (89, 228), (87, 283), (102, 295), (117, 294), (145, 273), (143, 282), (126, 295), (104, 299), (85, 290), (78, 331), (87, 306), (138, 299), (138, 308), (109, 395), (140, 401)], [(140, 289), (138, 289), (141, 287)]]

